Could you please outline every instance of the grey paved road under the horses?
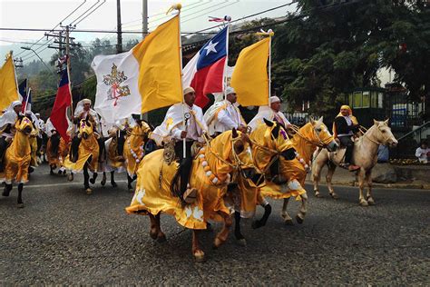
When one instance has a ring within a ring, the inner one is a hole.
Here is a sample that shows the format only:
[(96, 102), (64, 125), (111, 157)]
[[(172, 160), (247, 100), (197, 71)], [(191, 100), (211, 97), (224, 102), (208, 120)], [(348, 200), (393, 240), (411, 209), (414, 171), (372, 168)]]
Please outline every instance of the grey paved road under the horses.
[(204, 233), (208, 261), (197, 263), (191, 233), (171, 217), (161, 216), (168, 241), (159, 244), (147, 217), (124, 213), (132, 198), (124, 179), (116, 189), (97, 183), (88, 196), (80, 181), (42, 166), (24, 188), (24, 209), (15, 189), (0, 197), (0, 284), (430, 284), (428, 191), (377, 189), (367, 208), (355, 188), (337, 188), (337, 201), (309, 194), (296, 226), (284, 225), (281, 203), (271, 201), (268, 226), (242, 222), (246, 247), (230, 237), (214, 251), (214, 234)]

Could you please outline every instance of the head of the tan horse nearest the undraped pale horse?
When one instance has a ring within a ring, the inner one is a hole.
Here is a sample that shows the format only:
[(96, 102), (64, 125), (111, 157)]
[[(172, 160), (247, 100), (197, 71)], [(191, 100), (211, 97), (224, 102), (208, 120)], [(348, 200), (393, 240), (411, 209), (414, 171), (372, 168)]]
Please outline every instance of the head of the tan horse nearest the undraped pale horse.
[(327, 125), (323, 123), (323, 117), (318, 120), (310, 119), (308, 124), (305, 124), (299, 130), (310, 143), (325, 147), (329, 152), (334, 152), (338, 148), (334, 137), (327, 129)]

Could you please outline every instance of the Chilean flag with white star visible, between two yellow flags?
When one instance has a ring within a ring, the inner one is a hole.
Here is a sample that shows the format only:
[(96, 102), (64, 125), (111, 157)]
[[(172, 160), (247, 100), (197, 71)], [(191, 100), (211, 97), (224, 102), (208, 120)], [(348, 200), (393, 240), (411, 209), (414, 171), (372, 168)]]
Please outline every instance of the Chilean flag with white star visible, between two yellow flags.
[(206, 94), (220, 93), (224, 89), (224, 71), (227, 61), (229, 26), (203, 45), (183, 68), (183, 87), (196, 91), (196, 102), (201, 108), (209, 103)]

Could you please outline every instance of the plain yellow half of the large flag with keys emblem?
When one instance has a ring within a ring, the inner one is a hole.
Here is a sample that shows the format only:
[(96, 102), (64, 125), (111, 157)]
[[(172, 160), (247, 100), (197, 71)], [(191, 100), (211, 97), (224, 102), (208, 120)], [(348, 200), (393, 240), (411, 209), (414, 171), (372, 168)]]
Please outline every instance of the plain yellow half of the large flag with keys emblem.
[(180, 36), (176, 15), (132, 49), (139, 63), (142, 114), (182, 102)]

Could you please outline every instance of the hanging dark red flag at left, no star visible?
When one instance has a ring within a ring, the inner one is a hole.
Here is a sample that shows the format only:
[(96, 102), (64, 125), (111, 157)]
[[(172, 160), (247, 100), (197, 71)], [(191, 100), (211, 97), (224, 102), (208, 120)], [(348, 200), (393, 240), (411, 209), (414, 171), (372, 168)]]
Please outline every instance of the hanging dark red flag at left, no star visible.
[(55, 103), (51, 112), (51, 123), (57, 130), (66, 143), (69, 143), (69, 136), (67, 129), (69, 127), (69, 120), (67, 119), (67, 107), (72, 104), (72, 94), (70, 93), (69, 74), (67, 69), (64, 69), (61, 75), (60, 84), (58, 85), (58, 92), (55, 97)]

